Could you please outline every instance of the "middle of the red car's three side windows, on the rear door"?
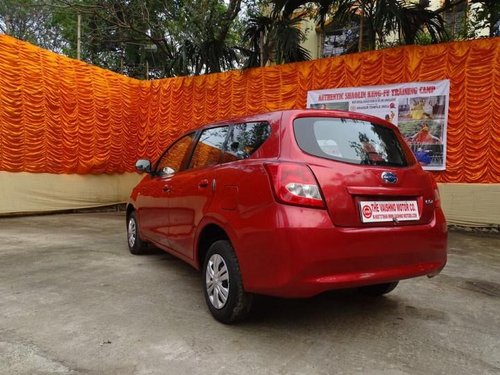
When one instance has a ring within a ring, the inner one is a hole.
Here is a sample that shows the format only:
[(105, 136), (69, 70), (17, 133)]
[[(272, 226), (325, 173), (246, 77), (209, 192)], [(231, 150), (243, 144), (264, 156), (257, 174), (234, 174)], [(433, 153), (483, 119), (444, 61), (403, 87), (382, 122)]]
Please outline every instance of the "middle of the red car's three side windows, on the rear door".
[(228, 127), (205, 129), (200, 135), (189, 168), (209, 167), (220, 163)]

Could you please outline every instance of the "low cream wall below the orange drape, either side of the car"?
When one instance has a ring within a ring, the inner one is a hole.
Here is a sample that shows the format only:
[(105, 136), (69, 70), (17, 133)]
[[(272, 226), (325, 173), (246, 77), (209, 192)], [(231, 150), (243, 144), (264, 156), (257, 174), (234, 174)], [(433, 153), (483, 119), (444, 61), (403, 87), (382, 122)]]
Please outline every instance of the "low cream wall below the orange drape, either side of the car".
[[(56, 175), (0, 172), (0, 215), (92, 208), (126, 202), (136, 173)], [(500, 225), (500, 184), (439, 184), (449, 224)]]

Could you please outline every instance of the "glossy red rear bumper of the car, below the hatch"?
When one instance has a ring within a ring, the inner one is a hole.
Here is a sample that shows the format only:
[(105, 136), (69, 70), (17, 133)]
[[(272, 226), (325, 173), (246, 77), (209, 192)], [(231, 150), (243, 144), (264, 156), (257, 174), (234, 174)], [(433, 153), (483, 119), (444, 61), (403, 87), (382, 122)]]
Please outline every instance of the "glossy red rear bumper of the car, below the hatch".
[(254, 232), (251, 249), (237, 247), (249, 292), (309, 297), (435, 275), (446, 264), (447, 230), (440, 210), (425, 225), (338, 228), (323, 210), (278, 209), (275, 217), (286, 226), (277, 222), (276, 231)]

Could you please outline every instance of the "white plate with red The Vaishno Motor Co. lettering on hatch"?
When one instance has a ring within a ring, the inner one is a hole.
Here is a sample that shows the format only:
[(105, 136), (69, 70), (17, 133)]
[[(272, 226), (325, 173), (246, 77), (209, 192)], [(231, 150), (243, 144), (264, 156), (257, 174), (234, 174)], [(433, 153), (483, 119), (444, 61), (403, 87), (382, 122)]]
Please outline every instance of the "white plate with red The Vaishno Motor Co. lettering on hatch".
[(361, 201), (363, 223), (415, 221), (420, 219), (417, 201)]

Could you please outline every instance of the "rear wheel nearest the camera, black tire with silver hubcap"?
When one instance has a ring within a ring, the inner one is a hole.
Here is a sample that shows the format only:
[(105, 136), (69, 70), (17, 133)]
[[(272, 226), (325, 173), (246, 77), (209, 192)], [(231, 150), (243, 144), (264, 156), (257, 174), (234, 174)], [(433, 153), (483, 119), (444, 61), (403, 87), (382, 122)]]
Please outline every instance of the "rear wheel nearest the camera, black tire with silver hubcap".
[(238, 259), (229, 241), (210, 246), (202, 272), (203, 294), (213, 317), (224, 324), (245, 318), (253, 296), (243, 288)]

